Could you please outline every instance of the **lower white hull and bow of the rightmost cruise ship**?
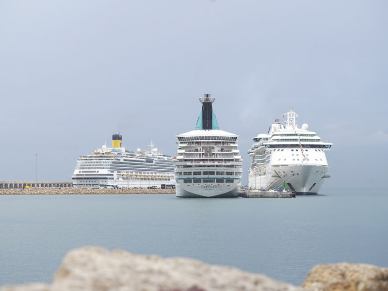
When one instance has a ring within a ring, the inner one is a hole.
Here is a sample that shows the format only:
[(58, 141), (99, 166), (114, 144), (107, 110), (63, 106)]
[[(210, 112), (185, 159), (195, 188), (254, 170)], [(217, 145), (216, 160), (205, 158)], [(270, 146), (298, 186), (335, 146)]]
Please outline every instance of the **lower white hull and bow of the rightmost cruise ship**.
[(283, 189), (284, 181), (287, 190), (297, 195), (316, 195), (319, 193), (328, 167), (320, 165), (275, 166), (268, 170), (266, 176), (250, 175), (249, 186), (257, 189)]

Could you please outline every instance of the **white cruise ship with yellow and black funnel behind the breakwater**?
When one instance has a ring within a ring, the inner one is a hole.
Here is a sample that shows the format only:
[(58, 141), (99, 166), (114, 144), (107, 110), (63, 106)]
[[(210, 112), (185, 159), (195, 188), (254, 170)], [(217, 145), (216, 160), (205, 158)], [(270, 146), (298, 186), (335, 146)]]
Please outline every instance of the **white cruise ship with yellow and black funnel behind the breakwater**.
[(131, 152), (122, 147), (121, 135), (113, 134), (112, 147), (102, 146), (80, 156), (72, 179), (76, 188), (132, 188), (174, 184), (171, 156), (161, 154), (151, 141), (150, 149)]

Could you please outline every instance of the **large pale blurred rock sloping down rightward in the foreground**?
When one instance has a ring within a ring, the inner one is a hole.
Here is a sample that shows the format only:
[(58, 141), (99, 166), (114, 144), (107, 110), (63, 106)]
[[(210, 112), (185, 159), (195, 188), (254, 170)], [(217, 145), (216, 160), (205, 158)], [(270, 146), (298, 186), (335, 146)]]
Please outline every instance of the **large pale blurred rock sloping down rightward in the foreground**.
[(292, 285), (195, 259), (135, 255), (99, 247), (70, 251), (50, 286), (31, 284), (0, 291), (296, 291)]

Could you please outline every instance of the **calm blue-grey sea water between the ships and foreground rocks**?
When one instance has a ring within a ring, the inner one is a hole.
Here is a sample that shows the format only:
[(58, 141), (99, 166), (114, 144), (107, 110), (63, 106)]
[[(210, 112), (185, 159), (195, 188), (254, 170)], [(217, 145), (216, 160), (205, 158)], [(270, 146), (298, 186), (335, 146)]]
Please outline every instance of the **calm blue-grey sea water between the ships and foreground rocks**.
[(0, 286), (51, 281), (84, 245), (190, 257), (300, 285), (317, 264), (388, 266), (388, 190), (296, 198), (0, 195)]

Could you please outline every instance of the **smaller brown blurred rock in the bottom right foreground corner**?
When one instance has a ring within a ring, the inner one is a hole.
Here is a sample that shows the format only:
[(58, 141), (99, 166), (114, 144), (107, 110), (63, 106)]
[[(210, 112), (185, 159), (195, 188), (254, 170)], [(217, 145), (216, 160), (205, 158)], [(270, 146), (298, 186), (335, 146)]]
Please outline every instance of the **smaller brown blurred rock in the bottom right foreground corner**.
[(317, 265), (302, 287), (312, 291), (388, 291), (388, 268), (350, 263)]

